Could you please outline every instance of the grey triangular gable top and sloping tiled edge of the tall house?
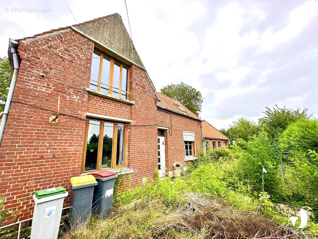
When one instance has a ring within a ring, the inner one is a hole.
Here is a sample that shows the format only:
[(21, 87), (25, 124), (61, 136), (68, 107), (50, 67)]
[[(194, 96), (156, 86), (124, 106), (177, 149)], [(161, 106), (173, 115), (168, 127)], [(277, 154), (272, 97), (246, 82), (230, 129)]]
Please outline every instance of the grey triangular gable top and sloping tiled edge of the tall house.
[[(31, 37), (18, 39), (17, 41), (26, 39), (32, 40), (32, 38), (37, 39), (45, 34), (52, 34), (55, 32), (58, 33), (58, 31), (66, 31), (68, 29), (72, 29), (79, 34), (86, 35), (88, 38), (95, 42), (95, 45), (106, 46), (118, 56), (123, 56), (125, 59), (128, 59), (129, 62), (132, 62), (134, 65), (145, 70), (145, 67), (142, 64), (142, 61), (135, 49), (133, 41), (131, 40), (127, 29), (121, 19), (121, 16), (118, 13), (107, 15), (105, 17), (95, 18), (93, 20), (71, 26), (53, 29), (47, 32), (36, 34)], [(106, 53), (108, 54), (108, 52)], [(121, 58), (119, 58), (119, 60), (121, 60)], [(146, 70), (145, 74), (148, 76), (149, 82), (155, 90), (154, 84), (152, 83)]]

